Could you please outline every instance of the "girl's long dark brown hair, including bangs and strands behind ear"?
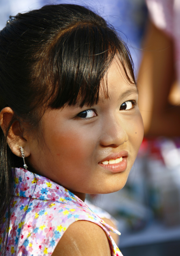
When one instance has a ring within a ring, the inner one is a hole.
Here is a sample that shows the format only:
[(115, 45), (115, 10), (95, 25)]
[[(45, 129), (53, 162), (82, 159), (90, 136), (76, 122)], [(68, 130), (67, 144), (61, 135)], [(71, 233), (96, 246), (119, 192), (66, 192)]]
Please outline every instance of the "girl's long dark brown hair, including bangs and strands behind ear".
[[(15, 113), (12, 122), (23, 120), (36, 129), (45, 107), (96, 104), (100, 82), (115, 55), (126, 79), (135, 83), (124, 42), (91, 10), (47, 5), (11, 20), (0, 32), (0, 110), (9, 106)], [(108, 96), (107, 88), (104, 92)], [(6, 136), (0, 129), (0, 225), (5, 214), (10, 218), (11, 168), (22, 167)]]

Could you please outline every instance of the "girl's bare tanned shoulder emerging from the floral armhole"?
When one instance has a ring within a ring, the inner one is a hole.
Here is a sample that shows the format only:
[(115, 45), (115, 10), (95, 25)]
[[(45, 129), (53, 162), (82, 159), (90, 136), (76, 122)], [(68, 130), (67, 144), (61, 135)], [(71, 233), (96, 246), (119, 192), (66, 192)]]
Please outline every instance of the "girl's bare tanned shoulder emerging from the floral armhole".
[(105, 232), (90, 221), (75, 221), (68, 227), (52, 253), (52, 256), (65, 255), (110, 256)]

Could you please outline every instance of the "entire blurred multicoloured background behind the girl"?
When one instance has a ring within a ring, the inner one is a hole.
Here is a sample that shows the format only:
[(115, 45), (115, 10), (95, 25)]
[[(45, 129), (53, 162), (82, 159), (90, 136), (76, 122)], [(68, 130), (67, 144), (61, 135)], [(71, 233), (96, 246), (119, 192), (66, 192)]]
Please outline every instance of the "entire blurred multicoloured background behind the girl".
[(117, 220), (124, 256), (180, 256), (178, 2), (0, 0), (0, 30), (9, 15), (50, 3), (75, 3), (105, 17), (130, 49), (145, 138), (125, 187), (112, 194), (88, 196)]

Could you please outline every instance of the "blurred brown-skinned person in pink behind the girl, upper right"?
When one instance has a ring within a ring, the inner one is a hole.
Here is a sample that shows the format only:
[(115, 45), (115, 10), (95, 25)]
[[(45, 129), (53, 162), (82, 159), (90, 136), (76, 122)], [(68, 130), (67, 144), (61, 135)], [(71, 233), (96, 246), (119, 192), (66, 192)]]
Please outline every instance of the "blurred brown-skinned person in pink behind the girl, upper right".
[(146, 2), (150, 21), (137, 80), (145, 135), (179, 136), (180, 1)]

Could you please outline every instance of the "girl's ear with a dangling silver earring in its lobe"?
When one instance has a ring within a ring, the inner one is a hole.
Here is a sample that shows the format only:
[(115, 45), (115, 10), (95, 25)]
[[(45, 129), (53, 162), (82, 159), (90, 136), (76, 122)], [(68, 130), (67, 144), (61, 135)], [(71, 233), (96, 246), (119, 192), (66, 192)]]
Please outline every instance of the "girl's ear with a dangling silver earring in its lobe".
[[(13, 116), (14, 111), (9, 107), (2, 109), (0, 112), (0, 126), (4, 132), (4, 135), (7, 133), (7, 129), (9, 128)], [(25, 157), (30, 155), (27, 139), (23, 136), (23, 133), (24, 130), (22, 129), (20, 122), (15, 120), (12, 123), (7, 135), (7, 143), (11, 151), (19, 157), (21, 157), (20, 147), (24, 148)]]

